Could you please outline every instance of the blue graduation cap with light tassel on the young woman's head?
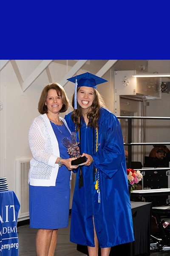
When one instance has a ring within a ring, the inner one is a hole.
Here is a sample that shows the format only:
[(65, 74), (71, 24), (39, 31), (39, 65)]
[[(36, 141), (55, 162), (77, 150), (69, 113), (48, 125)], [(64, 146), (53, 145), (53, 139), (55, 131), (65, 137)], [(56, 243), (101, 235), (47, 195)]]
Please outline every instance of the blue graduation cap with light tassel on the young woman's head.
[(86, 86), (86, 87), (92, 87), (96, 89), (97, 84), (102, 84), (108, 81), (99, 76), (95, 76), (94, 74), (89, 72), (68, 78), (67, 80), (75, 83), (75, 91), (74, 91), (74, 108), (75, 109), (77, 109), (77, 87)]

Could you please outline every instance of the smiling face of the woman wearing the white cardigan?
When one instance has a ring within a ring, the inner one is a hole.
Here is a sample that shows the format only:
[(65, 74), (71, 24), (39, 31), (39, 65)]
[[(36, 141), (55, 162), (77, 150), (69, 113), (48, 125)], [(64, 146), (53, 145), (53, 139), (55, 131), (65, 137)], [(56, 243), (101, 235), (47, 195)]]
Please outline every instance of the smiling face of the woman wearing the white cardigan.
[(61, 95), (58, 95), (54, 89), (48, 90), (45, 105), (47, 106), (48, 113), (59, 113), (62, 108)]

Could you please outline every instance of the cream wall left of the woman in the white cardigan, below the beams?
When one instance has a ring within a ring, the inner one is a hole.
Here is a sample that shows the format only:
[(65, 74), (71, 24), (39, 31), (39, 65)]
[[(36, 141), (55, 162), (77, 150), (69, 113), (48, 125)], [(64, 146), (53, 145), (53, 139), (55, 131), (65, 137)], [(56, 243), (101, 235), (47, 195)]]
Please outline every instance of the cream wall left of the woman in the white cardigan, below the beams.
[(37, 100), (41, 87), (23, 93), (9, 62), (0, 72), (0, 176), (7, 177), (8, 188), (15, 191), (15, 161), (30, 159), (28, 130), (37, 116)]

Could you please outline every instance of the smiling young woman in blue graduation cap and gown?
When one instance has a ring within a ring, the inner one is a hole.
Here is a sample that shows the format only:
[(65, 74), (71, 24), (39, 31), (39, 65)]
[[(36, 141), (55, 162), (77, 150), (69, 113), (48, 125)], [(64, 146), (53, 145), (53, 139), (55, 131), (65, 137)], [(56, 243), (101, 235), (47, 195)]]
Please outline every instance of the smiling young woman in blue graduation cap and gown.
[(70, 241), (88, 246), (89, 256), (98, 255), (98, 247), (108, 256), (111, 247), (134, 241), (122, 130), (96, 90), (107, 80), (91, 73), (68, 80), (76, 80), (77, 95), (65, 120), (87, 159), (74, 170)]

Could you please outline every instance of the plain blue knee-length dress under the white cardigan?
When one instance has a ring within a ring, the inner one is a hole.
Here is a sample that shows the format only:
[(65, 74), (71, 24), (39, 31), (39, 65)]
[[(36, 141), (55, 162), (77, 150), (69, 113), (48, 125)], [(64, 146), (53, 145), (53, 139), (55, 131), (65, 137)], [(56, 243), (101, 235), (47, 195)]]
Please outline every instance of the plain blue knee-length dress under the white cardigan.
[[(63, 137), (70, 140), (70, 132), (63, 125), (51, 122), (59, 143), (60, 157), (69, 158), (67, 148), (62, 145)], [(61, 133), (62, 132), (62, 133)], [(68, 157), (66, 157), (68, 155)], [(62, 165), (59, 168), (56, 186), (30, 186), (29, 201), (30, 227), (37, 229), (58, 229), (68, 227), (70, 205), (71, 172)]]

